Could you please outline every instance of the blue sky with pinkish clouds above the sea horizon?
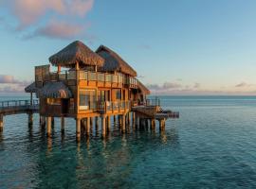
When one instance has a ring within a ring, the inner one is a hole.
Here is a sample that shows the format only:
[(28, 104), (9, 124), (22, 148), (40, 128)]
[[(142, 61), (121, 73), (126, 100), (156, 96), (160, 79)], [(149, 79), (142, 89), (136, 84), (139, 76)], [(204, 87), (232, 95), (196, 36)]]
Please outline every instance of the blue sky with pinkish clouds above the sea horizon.
[(68, 43), (104, 44), (152, 94), (256, 94), (255, 0), (0, 0), (0, 94)]

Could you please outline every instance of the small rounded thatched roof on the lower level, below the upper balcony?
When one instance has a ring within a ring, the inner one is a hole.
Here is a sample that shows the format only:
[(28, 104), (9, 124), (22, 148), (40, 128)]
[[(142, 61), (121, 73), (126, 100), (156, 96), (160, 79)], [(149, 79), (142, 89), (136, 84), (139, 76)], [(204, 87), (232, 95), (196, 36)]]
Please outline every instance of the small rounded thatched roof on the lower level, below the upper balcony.
[(40, 97), (44, 98), (70, 98), (71, 91), (61, 81), (47, 82), (39, 92)]

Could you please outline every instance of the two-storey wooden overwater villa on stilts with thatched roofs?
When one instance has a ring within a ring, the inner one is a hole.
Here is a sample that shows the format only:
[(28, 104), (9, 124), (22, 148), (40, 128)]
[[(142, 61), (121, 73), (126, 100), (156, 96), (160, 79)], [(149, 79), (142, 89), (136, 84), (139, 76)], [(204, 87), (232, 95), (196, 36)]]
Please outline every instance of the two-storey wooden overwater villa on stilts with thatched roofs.
[[(46, 125), (47, 136), (51, 136), (54, 117), (61, 118), (62, 131), (64, 118), (74, 118), (78, 139), (81, 130), (89, 134), (93, 123), (98, 126), (100, 119), (105, 136), (110, 130), (111, 116), (119, 121), (122, 132), (127, 124), (136, 127), (148, 125), (149, 121), (155, 129), (155, 120), (164, 129), (167, 118), (178, 117), (176, 112), (163, 111), (159, 100), (148, 100), (150, 91), (137, 80), (137, 72), (106, 46), (101, 45), (94, 52), (76, 41), (52, 55), (49, 62), (51, 65), (35, 67), (35, 81), (25, 89), (31, 94), (30, 106), (34, 105), (32, 94), (39, 98), (40, 122)], [(27, 110), (29, 122), (35, 111)]]

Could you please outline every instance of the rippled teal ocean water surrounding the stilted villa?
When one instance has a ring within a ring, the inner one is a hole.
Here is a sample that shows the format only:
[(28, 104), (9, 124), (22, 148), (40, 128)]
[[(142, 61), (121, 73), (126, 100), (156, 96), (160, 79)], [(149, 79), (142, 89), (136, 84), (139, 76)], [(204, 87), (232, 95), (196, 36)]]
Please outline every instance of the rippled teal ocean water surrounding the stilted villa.
[(160, 98), (180, 112), (165, 131), (112, 126), (80, 144), (72, 119), (64, 135), (56, 119), (47, 139), (37, 115), (32, 128), (26, 114), (6, 116), (0, 188), (256, 188), (256, 97)]

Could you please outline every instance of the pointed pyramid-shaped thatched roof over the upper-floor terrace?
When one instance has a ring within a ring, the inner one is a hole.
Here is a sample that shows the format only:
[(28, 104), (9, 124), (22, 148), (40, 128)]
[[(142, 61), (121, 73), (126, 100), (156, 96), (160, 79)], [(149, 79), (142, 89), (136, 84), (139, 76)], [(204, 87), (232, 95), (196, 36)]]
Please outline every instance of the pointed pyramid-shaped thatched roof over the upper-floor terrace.
[(75, 67), (76, 62), (80, 65), (103, 65), (103, 59), (93, 52), (88, 46), (80, 41), (76, 41), (68, 44), (60, 52), (52, 55), (49, 58), (52, 65), (64, 66), (64, 67)]

